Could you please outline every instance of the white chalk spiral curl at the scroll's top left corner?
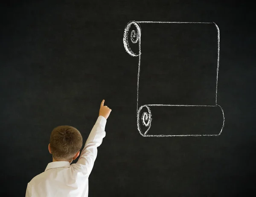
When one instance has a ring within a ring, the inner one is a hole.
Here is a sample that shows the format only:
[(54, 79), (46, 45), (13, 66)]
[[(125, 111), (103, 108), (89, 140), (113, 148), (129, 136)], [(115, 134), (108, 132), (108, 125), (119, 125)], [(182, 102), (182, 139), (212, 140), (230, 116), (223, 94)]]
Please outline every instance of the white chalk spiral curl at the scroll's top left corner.
[[(134, 25), (136, 27), (136, 30), (132, 30), (129, 38), (129, 30), (131, 26)], [(138, 23), (135, 21), (130, 21), (126, 27), (125, 27), (125, 32), (124, 32), (124, 37), (123, 37), (123, 43), (125, 47), (125, 51), (129, 53), (131, 56), (139, 56), (140, 55), (140, 36), (141, 36), (141, 28)], [(131, 39), (132, 43), (138, 43), (139, 44), (139, 53), (134, 53), (134, 51), (131, 50), (130, 45), (129, 45), (129, 39)]]

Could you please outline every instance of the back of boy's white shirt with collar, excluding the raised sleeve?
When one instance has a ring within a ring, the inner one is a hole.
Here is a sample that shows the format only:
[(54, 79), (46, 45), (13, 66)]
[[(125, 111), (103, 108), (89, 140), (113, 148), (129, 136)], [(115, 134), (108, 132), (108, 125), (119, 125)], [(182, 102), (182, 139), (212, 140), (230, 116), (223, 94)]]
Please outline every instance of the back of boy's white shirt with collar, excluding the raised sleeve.
[[(32, 197), (71, 197), (88, 196), (88, 178), (77, 172), (68, 161), (56, 161), (49, 164), (45, 172), (34, 177), (28, 185), (26, 195)], [(70, 166), (70, 167), (69, 167)], [(52, 168), (53, 167), (53, 168)], [(81, 185), (84, 185), (81, 187)], [(29, 189), (30, 186), (30, 189)], [(29, 193), (32, 193), (29, 195)]]

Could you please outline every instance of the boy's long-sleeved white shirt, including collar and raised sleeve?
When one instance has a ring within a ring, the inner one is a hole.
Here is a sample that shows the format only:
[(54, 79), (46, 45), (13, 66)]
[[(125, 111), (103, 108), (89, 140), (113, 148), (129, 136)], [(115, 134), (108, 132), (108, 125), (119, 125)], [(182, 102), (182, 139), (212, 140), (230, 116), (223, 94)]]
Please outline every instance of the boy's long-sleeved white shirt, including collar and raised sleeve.
[(48, 163), (27, 185), (26, 197), (88, 197), (88, 177), (97, 156), (97, 147), (106, 135), (106, 118), (99, 116), (77, 163)]

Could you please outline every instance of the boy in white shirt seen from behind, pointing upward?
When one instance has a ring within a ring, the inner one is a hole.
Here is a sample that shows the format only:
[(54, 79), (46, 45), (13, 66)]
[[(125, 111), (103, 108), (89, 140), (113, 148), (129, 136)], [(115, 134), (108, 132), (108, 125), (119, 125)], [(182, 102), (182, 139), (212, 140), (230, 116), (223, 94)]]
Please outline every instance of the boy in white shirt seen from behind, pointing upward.
[(97, 156), (97, 147), (106, 135), (105, 125), (111, 113), (104, 101), (77, 163), (70, 165), (80, 154), (80, 132), (70, 126), (58, 126), (52, 130), (48, 145), (52, 162), (28, 183), (26, 197), (88, 197), (88, 177)]

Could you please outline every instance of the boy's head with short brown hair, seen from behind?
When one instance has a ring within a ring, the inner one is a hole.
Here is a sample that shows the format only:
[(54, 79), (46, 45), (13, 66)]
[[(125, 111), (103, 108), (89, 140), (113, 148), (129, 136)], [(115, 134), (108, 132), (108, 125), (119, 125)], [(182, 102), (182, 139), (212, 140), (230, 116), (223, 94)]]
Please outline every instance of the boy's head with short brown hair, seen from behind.
[(71, 126), (58, 126), (52, 130), (48, 149), (53, 160), (71, 163), (79, 156), (82, 144), (79, 130)]

